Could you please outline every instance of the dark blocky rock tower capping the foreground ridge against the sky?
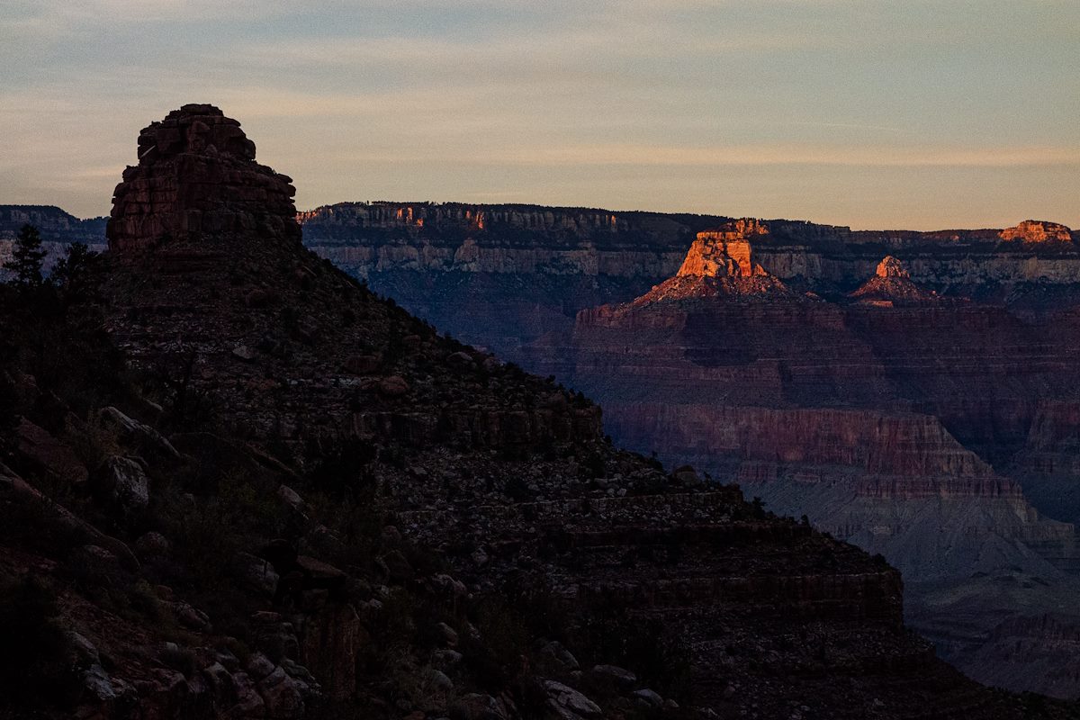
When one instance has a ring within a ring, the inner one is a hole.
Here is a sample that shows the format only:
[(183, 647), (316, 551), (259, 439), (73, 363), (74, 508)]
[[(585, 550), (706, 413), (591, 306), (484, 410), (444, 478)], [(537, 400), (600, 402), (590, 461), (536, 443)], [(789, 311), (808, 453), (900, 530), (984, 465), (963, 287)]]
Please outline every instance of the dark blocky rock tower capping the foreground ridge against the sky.
[(138, 165), (117, 186), (107, 235), (121, 257), (167, 241), (300, 242), (292, 179), (255, 162), (255, 144), (213, 105), (185, 105), (138, 137)]

